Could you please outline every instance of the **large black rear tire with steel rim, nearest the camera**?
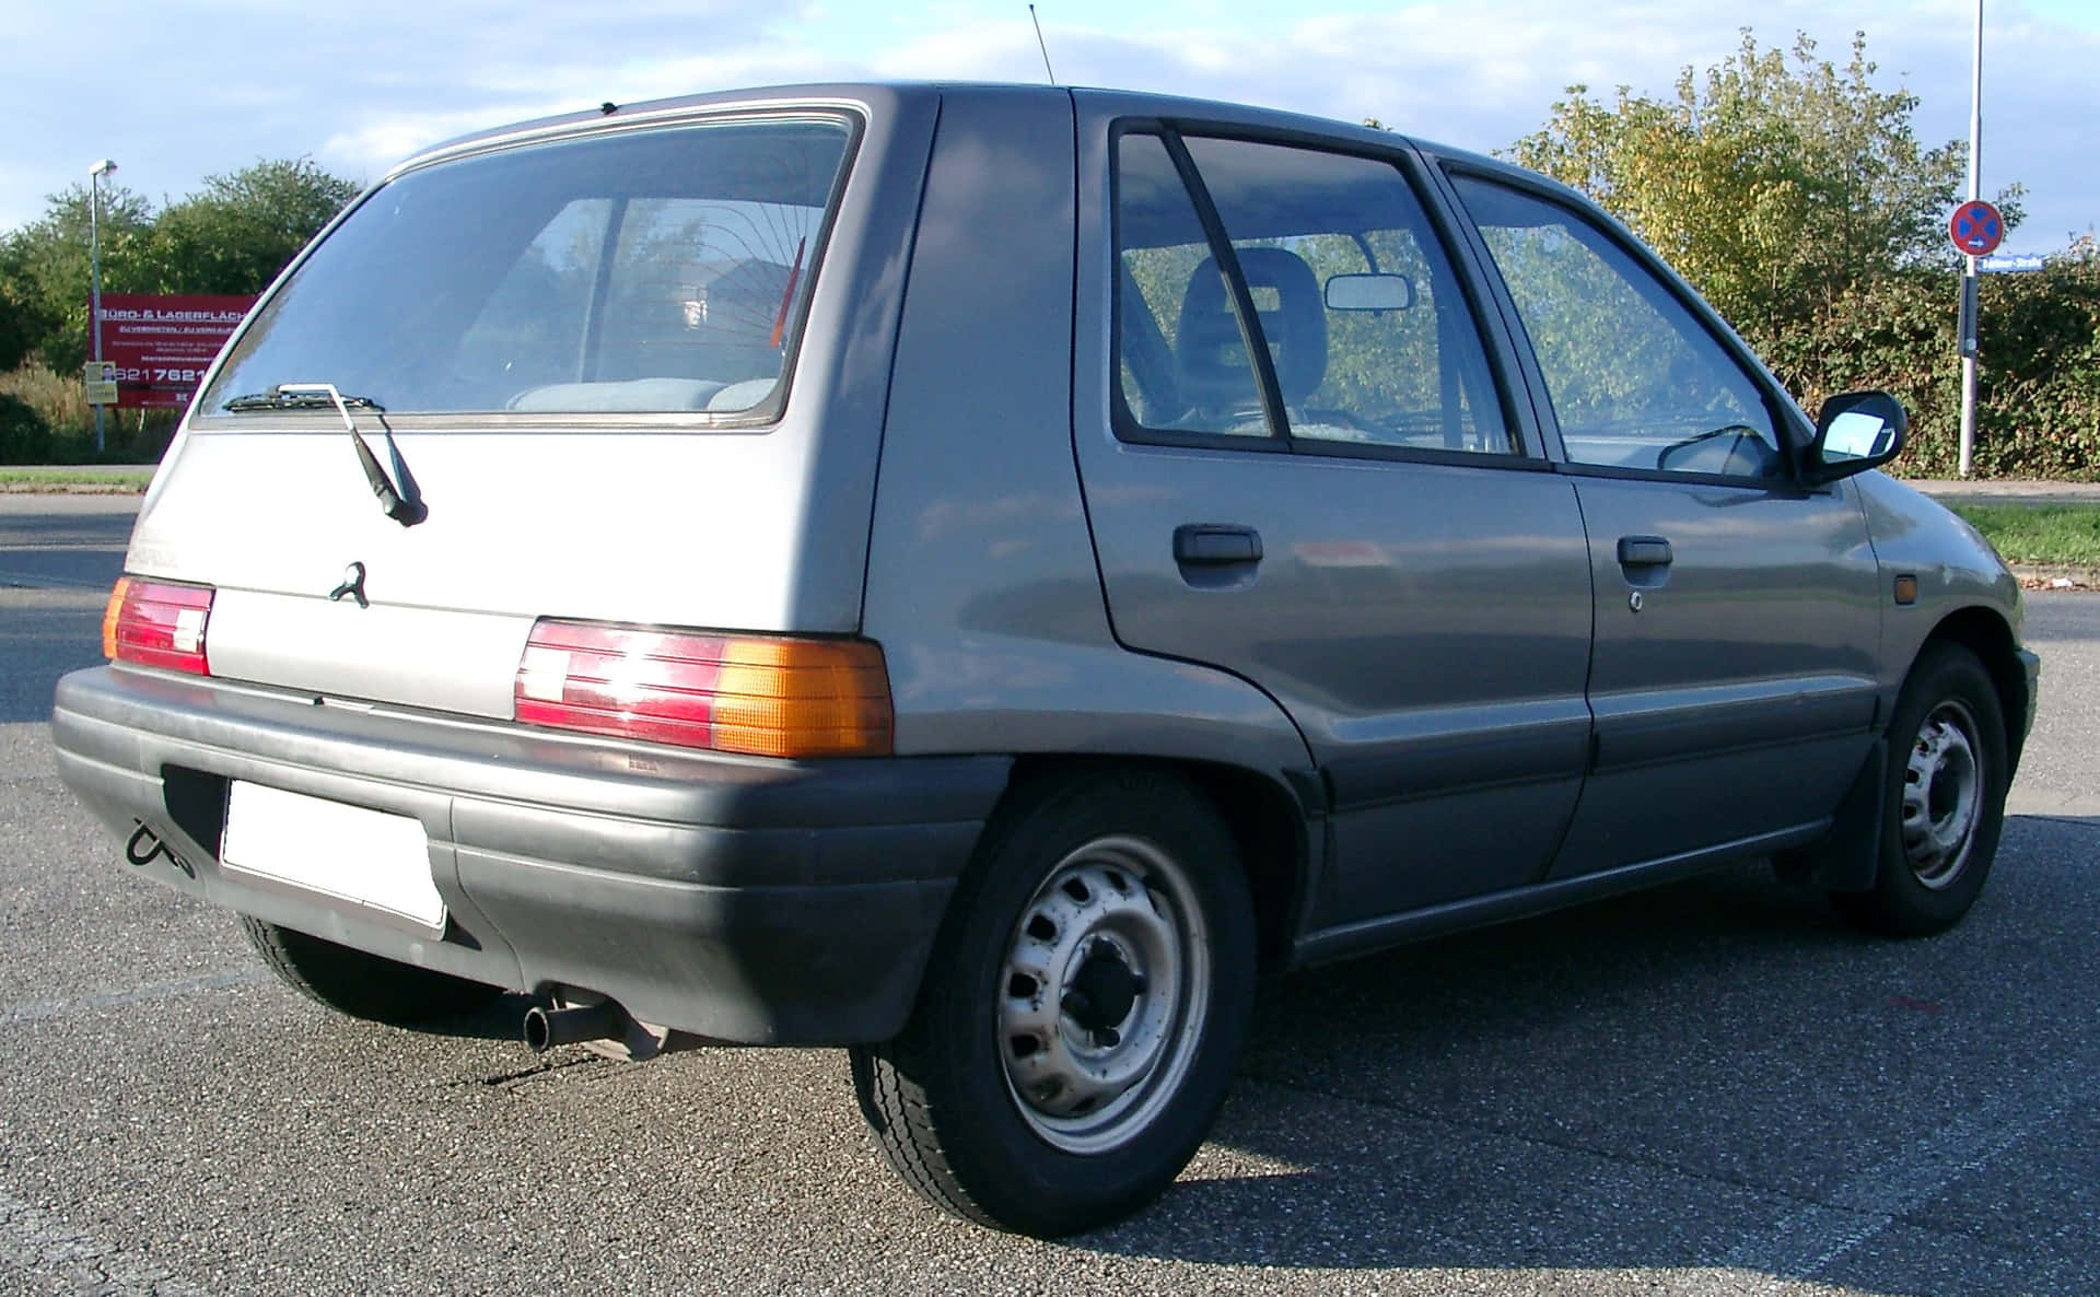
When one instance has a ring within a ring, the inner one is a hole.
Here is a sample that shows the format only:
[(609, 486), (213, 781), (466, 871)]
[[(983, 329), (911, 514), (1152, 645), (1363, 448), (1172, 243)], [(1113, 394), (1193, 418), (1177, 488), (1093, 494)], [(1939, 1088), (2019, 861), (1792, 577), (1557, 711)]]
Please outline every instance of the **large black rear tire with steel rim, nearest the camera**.
[(1231, 833), (1178, 779), (1023, 791), (987, 829), (905, 1030), (853, 1049), (890, 1167), (966, 1219), (1054, 1238), (1195, 1156), (1254, 1007)]

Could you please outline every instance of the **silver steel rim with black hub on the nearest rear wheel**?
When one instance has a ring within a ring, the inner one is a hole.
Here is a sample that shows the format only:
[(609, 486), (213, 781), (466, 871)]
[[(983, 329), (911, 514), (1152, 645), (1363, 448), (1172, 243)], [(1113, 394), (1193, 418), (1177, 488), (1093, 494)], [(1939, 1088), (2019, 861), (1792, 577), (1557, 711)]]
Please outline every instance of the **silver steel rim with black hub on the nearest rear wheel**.
[(1000, 1066), (1029, 1129), (1077, 1154), (1144, 1131), (1195, 1060), (1210, 959), (1195, 886), (1159, 846), (1096, 837), (1058, 860), (1000, 963)]

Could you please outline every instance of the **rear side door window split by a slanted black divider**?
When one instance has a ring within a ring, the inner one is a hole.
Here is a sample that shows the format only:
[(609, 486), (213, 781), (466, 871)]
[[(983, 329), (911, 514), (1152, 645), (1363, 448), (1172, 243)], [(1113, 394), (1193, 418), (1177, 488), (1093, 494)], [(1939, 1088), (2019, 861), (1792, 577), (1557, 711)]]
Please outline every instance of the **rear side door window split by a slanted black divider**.
[(1214, 136), (1184, 147), (1245, 300), (1163, 139), (1126, 134), (1117, 374), (1138, 424), (1266, 432), (1254, 336), (1298, 441), (1512, 453), (1466, 296), (1392, 164)]

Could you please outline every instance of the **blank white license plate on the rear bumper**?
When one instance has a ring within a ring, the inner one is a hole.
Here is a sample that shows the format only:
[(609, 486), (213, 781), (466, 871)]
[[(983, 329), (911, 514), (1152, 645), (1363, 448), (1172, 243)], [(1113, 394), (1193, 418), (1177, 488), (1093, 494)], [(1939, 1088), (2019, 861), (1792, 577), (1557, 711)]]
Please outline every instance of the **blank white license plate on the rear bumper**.
[[(422, 821), (235, 781), (218, 865), (405, 919), (439, 936)], [(380, 917), (374, 915), (374, 917)]]

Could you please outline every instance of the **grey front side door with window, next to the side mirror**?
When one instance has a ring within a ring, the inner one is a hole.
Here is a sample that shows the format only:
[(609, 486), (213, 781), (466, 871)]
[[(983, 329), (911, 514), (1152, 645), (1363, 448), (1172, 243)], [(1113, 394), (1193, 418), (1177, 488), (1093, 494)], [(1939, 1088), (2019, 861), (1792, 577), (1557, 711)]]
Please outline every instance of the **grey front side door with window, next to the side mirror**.
[(1508, 176), (1453, 185), (1590, 533), (1596, 753), (1552, 875), (1812, 835), (1875, 726), (1880, 577), (1852, 487), (1796, 483), (1798, 411), (1609, 222)]

